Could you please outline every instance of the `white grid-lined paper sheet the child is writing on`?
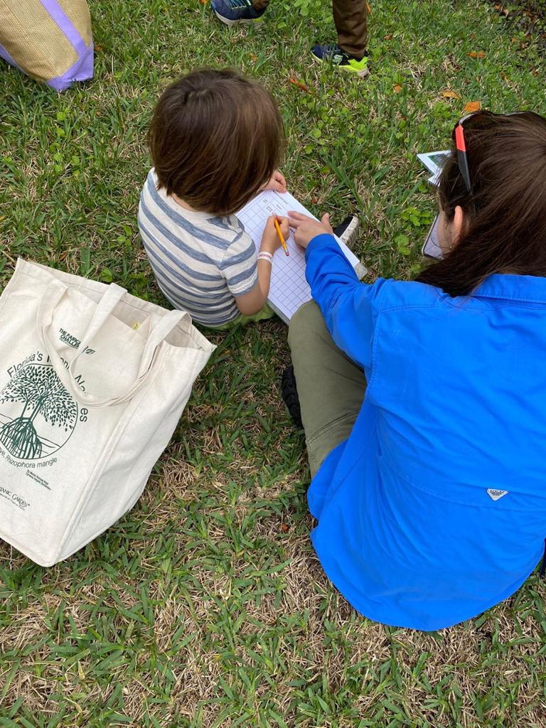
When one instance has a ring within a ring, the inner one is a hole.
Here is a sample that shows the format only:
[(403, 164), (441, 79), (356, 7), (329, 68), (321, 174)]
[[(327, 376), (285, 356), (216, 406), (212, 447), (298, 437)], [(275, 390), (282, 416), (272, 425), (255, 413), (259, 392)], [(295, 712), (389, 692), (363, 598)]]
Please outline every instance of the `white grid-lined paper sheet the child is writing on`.
[[(253, 239), (256, 249), (260, 249), (261, 236), (269, 215), (287, 217), (288, 210), (304, 213), (314, 218), (309, 210), (301, 205), (289, 192), (280, 194), (271, 190), (261, 192), (251, 199), (245, 207), (237, 213), (237, 218), (245, 226), (246, 232)], [(315, 220), (317, 218), (314, 218)], [(349, 263), (357, 273), (365, 273), (357, 256), (352, 253), (344, 242), (336, 238), (339, 247), (343, 250)], [(286, 241), (290, 256), (285, 256), (282, 249), (274, 254), (271, 286), (267, 301), (285, 323), (288, 323), (298, 308), (311, 300), (311, 289), (305, 280), (305, 250), (296, 245), (292, 232)]]

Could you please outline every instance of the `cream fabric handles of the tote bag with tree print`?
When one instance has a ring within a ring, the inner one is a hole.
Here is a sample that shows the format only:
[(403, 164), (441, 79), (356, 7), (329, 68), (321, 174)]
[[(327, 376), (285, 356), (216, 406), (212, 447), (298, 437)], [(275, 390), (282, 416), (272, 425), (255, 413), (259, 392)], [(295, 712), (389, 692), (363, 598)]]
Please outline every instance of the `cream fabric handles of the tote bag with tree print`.
[(153, 365), (157, 359), (158, 349), (160, 344), (162, 344), (162, 341), (165, 341), (170, 332), (173, 331), (173, 328), (175, 328), (181, 320), (189, 317), (189, 314), (184, 311), (167, 312), (167, 314), (158, 321), (149, 333), (146, 345), (142, 352), (141, 363), (139, 365), (135, 381), (133, 381), (129, 387), (124, 389), (123, 392), (119, 392), (118, 395), (108, 397), (108, 399), (102, 399), (100, 396), (93, 395), (90, 392), (82, 392), (82, 389), (74, 379), (74, 365), (95, 336), (97, 336), (100, 329), (108, 320), (108, 317), (113, 314), (117, 304), (119, 304), (119, 301), (122, 300), (127, 291), (115, 283), (108, 285), (106, 293), (104, 293), (104, 296), (100, 299), (95, 308), (95, 312), (91, 317), (87, 331), (84, 333), (84, 336), (82, 336), (82, 341), (80, 341), (79, 347), (76, 350), (76, 355), (68, 368), (66, 368), (63, 364), (57, 349), (55, 349), (55, 346), (52, 344), (50, 339), (50, 329), (55, 309), (67, 292), (68, 288), (66, 285), (63, 285), (63, 283), (58, 280), (52, 280), (47, 285), (44, 295), (41, 298), (36, 317), (36, 324), (41, 342), (44, 344), (47, 355), (50, 357), (55, 373), (57, 373), (57, 376), (63, 383), (63, 386), (74, 397), (74, 399), (86, 407), (111, 407), (113, 405), (126, 402), (135, 395), (136, 392), (138, 392), (138, 389), (140, 389), (146, 382), (146, 379), (151, 373)]

